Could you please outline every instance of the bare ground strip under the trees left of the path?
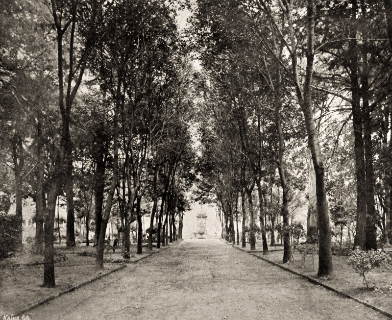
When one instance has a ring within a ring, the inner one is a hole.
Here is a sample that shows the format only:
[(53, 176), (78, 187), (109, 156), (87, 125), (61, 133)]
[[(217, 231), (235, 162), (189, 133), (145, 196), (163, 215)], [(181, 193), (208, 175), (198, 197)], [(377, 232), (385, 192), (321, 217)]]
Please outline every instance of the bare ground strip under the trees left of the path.
[[(144, 247), (143, 254), (138, 255), (136, 247), (131, 246), (131, 258), (125, 260), (121, 255), (121, 248), (118, 248), (116, 253), (105, 250), (104, 271), (97, 271), (95, 247), (76, 246), (65, 249), (56, 246), (55, 249), (55, 288), (41, 287), (44, 258), (41, 254), (32, 253), (30, 248), (0, 261), (0, 316), (15, 314), (17, 310), (90, 280), (102, 272), (118, 268), (121, 263), (137, 262), (151, 254), (151, 251)], [(154, 248), (153, 252), (158, 250)]]

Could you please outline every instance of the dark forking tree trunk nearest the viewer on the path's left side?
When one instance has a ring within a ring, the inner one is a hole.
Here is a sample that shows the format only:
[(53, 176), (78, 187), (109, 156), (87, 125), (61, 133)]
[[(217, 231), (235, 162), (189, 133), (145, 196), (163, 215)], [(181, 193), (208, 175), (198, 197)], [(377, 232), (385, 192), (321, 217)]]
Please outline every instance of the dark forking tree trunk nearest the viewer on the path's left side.
[[(96, 33), (96, 15), (99, 12), (98, 1), (92, 4), (91, 12), (93, 13), (88, 19), (91, 19), (89, 27), (91, 32), (86, 32), (87, 39), (84, 41), (85, 47), (81, 47), (81, 58), (79, 61), (75, 61), (74, 57), (74, 40), (75, 30), (77, 29), (77, 10), (78, 2), (73, 1), (70, 3), (63, 3), (55, 0), (50, 1), (51, 14), (53, 16), (53, 25), (56, 29), (56, 45), (57, 45), (57, 81), (58, 81), (58, 106), (61, 113), (61, 140), (59, 148), (56, 150), (55, 161), (53, 164), (53, 170), (49, 182), (49, 195), (48, 195), (48, 210), (45, 222), (45, 249), (44, 249), (44, 287), (53, 287), (54, 281), (54, 263), (53, 263), (53, 229), (54, 229), (54, 217), (56, 209), (56, 198), (59, 195), (62, 179), (64, 178), (64, 160), (66, 159), (66, 151), (70, 150), (69, 146), (70, 138), (70, 120), (71, 120), (71, 109), (74, 98), (79, 89), (84, 70), (87, 64), (88, 53), (92, 49), (92, 45), (95, 44)], [(68, 8), (67, 8), (68, 7)], [(64, 10), (69, 9), (70, 19), (67, 19), (63, 25), (62, 13)], [(68, 30), (69, 29), (69, 30)], [(67, 32), (66, 32), (67, 31)], [(70, 31), (70, 32), (68, 32)], [(69, 36), (69, 41), (65, 41), (64, 36)], [(69, 47), (67, 50), (63, 50), (63, 43), (68, 43)], [(69, 60), (67, 61), (68, 76), (65, 76), (63, 51), (67, 51)], [(64, 79), (67, 79), (67, 84), (64, 84)], [(73, 85), (73, 87), (72, 87)]]

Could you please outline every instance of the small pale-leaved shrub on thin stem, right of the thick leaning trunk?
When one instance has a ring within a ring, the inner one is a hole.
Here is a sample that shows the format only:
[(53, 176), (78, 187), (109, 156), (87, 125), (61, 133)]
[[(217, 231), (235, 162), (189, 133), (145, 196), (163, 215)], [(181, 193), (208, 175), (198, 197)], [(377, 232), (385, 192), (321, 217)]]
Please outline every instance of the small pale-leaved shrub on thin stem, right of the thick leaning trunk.
[(391, 267), (391, 257), (378, 250), (363, 251), (359, 247), (352, 251), (351, 257), (348, 259), (349, 263), (353, 266), (354, 271), (362, 276), (366, 289), (369, 288), (366, 274), (377, 267), (389, 269)]

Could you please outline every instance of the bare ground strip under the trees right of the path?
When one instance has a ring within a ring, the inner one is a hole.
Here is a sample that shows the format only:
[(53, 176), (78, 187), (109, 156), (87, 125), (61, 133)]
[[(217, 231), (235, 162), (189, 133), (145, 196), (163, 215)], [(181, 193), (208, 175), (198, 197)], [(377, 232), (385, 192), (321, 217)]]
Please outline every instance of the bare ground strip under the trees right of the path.
[(318, 254), (307, 254), (305, 261), (298, 251), (295, 251), (294, 261), (283, 264), (283, 251), (270, 252), (267, 255), (257, 253), (272, 262), (284, 265), (286, 268), (317, 279), (320, 282), (333, 287), (345, 294), (355, 296), (363, 301), (375, 305), (385, 311), (392, 313), (392, 272), (385, 269), (370, 271), (366, 277), (372, 288), (366, 290), (362, 277), (354, 272), (348, 263), (347, 256), (332, 256), (334, 266), (334, 277), (332, 279), (317, 278), (319, 266)]

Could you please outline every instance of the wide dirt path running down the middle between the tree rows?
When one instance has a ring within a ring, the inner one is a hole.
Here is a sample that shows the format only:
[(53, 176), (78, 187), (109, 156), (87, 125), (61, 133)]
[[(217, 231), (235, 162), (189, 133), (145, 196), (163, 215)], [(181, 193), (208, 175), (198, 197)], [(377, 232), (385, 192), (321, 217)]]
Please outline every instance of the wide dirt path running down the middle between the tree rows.
[(386, 319), (219, 240), (185, 240), (30, 319)]

